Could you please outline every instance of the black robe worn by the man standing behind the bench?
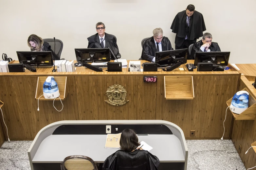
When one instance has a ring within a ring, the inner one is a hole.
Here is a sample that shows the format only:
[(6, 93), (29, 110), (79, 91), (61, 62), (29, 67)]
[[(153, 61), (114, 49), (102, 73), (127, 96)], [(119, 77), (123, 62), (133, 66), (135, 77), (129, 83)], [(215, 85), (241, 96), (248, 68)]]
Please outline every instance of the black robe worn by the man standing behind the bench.
[[(181, 46), (186, 37), (186, 28), (185, 24), (187, 23), (186, 10), (179, 12), (172, 23), (171, 29), (173, 33), (176, 33), (175, 45), (178, 47)], [(191, 23), (191, 22), (190, 22)], [(200, 12), (194, 11), (192, 15), (192, 24), (190, 24), (190, 34), (188, 39), (194, 40), (203, 36), (203, 31), (206, 30), (204, 17)], [(182, 42), (179, 39), (183, 40)]]

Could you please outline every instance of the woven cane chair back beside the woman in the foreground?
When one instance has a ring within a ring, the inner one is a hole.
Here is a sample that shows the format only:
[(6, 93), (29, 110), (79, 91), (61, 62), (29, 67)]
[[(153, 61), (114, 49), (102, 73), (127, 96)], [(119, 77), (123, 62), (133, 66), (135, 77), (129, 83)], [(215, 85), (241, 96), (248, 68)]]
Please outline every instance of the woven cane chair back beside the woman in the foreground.
[(61, 170), (99, 170), (94, 161), (82, 155), (68, 156), (61, 163)]

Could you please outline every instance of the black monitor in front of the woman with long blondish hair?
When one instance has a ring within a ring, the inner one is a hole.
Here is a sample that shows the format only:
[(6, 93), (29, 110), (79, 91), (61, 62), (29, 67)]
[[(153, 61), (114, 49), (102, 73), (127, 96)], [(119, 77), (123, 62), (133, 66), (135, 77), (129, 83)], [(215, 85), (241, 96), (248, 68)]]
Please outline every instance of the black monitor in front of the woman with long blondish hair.
[(52, 67), (51, 51), (16, 51), (20, 63), (33, 67)]

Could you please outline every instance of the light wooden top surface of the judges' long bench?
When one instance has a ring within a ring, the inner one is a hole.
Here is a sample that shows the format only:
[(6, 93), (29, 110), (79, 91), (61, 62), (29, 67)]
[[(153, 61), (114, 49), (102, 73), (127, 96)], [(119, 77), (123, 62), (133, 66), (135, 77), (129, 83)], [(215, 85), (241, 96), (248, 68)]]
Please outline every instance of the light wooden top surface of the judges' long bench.
[[(149, 61), (146, 60), (140, 60), (141, 64), (142, 63), (147, 63)], [(129, 63), (129, 60), (127, 60), (127, 62)], [(13, 63), (18, 63), (18, 61), (14, 61)], [(194, 60), (188, 60), (187, 63), (194, 63)], [(56, 68), (56, 67), (55, 67)], [(179, 68), (183, 68), (184, 70), (180, 70)], [(112, 75), (112, 76), (122, 76), (122, 75), (184, 75), (184, 74), (188, 74), (188, 75), (216, 75), (216, 74), (221, 74), (221, 75), (234, 75), (234, 74), (238, 74), (237, 70), (231, 66), (229, 64), (229, 70), (225, 70), (225, 71), (207, 71), (207, 72), (197, 72), (197, 69), (194, 69), (193, 71), (188, 71), (186, 64), (182, 64), (179, 68), (174, 69), (173, 71), (170, 72), (166, 72), (166, 71), (162, 71), (161, 69), (158, 69), (158, 72), (128, 72), (128, 67), (127, 68), (123, 68), (122, 72), (107, 72), (107, 71), (103, 71), (103, 72), (95, 72), (93, 70), (84, 68), (83, 66), (81, 67), (76, 67), (76, 71), (75, 72), (52, 72), (53, 67), (51, 68), (37, 68), (36, 71), (37, 72), (30, 72), (28, 70), (25, 71), (25, 73), (0, 73), (0, 76), (10, 76), (10, 75), (16, 75), (16, 76), (44, 76), (44, 75), (58, 75), (58, 76), (71, 76), (71, 75), (95, 75), (95, 76), (102, 76), (102, 75)], [(57, 69), (57, 68), (56, 68)]]

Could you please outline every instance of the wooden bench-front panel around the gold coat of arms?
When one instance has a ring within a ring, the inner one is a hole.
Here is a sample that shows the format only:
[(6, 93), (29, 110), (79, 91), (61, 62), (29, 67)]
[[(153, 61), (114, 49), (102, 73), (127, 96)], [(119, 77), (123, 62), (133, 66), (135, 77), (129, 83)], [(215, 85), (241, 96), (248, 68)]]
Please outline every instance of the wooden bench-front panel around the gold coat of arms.
[[(76, 76), (79, 120), (154, 120), (156, 82), (143, 82), (143, 76)], [(158, 82), (157, 82), (158, 83)], [(107, 89), (123, 86), (129, 100), (123, 106), (111, 106)]]

